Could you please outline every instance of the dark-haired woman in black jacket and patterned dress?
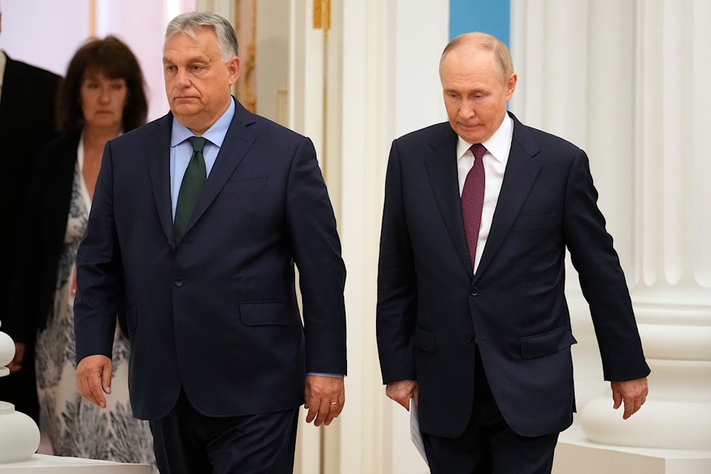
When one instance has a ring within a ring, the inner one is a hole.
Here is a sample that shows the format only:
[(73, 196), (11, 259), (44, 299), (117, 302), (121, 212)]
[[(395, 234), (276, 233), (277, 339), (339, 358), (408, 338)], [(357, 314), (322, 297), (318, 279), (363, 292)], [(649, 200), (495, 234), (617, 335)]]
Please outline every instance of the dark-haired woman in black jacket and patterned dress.
[(59, 456), (155, 463), (149, 425), (134, 419), (129, 404), (126, 336), (117, 330), (112, 393), (102, 410), (77, 391), (73, 328), (75, 257), (104, 146), (144, 124), (147, 110), (144, 77), (127, 45), (113, 36), (87, 41), (60, 85), (62, 136), (43, 149), (25, 206), (11, 318), (27, 337), (36, 335), (41, 413)]

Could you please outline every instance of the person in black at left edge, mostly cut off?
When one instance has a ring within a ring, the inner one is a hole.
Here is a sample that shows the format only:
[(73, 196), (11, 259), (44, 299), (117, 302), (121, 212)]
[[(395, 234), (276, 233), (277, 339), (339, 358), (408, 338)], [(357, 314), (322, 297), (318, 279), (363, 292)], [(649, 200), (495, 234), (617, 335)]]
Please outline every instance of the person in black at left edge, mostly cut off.
[[(2, 30), (0, 14), (0, 31)], [(6, 321), (12, 284), (16, 235), (37, 156), (56, 135), (55, 95), (62, 79), (52, 72), (10, 58), (0, 50), (0, 202), (9, 245), (0, 252), (0, 323)], [(0, 400), (39, 420), (35, 382), (34, 331), (5, 325), (15, 341), (11, 375), (0, 378)]]

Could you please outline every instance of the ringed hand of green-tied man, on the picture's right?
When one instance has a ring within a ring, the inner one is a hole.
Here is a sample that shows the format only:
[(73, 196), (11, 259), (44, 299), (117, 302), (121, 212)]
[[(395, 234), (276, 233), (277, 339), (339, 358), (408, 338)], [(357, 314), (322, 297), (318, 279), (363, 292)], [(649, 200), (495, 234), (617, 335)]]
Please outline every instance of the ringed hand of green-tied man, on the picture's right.
[(306, 403), (304, 408), (306, 423), (314, 421), (314, 426), (331, 424), (336, 416), (341, 414), (346, 403), (346, 387), (343, 377), (326, 377), (323, 375), (306, 375), (304, 389)]

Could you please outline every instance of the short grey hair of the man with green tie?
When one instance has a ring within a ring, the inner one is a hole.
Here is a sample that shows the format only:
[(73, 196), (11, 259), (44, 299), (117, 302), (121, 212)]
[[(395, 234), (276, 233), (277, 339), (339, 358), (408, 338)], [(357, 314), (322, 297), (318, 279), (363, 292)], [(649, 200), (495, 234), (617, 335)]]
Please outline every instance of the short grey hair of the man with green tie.
[(186, 33), (186, 35), (197, 41), (198, 35), (196, 32), (203, 28), (213, 28), (215, 31), (220, 55), (225, 63), (232, 57), (238, 56), (239, 44), (237, 43), (235, 28), (232, 28), (230, 22), (225, 18), (218, 14), (213, 14), (211, 11), (193, 11), (176, 16), (168, 23), (165, 41), (167, 42), (177, 33)]

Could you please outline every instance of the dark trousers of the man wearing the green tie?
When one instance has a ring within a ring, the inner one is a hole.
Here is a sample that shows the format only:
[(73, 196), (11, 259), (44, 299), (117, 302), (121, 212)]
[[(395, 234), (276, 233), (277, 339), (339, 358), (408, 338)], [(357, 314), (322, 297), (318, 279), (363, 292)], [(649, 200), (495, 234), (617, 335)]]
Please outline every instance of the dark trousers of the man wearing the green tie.
[(247, 416), (204, 416), (181, 390), (178, 403), (151, 421), (161, 474), (289, 474), (299, 409)]

